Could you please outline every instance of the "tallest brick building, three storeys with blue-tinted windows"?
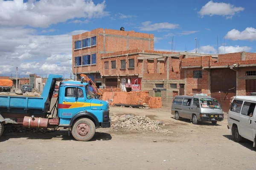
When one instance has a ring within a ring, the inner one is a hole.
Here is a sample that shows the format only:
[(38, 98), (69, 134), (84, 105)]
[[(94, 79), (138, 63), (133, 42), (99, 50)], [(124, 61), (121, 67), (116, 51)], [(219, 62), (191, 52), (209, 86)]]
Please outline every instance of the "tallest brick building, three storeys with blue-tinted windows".
[(153, 34), (121, 30), (97, 28), (73, 35), (73, 73), (76, 62), (78, 77), (87, 74), (99, 86), (102, 85), (100, 54), (135, 48), (154, 50)]

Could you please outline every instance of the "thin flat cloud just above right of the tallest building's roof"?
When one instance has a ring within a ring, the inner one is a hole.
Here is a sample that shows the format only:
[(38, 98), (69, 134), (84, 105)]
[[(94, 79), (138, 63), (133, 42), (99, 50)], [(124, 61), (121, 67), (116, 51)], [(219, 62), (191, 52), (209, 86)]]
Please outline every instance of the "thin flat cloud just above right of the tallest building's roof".
[(139, 27), (140, 31), (159, 31), (163, 29), (176, 29), (179, 28), (179, 24), (172, 23), (154, 23), (151, 24), (151, 21), (146, 21), (142, 23), (142, 26)]

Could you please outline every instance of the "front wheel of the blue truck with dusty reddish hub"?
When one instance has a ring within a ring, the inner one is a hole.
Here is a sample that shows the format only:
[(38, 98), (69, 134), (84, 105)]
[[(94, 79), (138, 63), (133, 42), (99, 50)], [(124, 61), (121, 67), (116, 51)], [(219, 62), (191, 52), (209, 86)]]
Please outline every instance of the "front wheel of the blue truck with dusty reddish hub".
[(72, 126), (72, 135), (78, 141), (89, 141), (95, 135), (96, 127), (90, 119), (78, 119)]

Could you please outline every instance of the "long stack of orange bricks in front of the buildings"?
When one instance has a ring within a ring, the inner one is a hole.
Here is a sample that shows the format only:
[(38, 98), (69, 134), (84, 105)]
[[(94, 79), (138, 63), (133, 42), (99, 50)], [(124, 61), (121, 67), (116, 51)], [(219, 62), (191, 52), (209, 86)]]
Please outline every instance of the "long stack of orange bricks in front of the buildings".
[(126, 105), (143, 105), (146, 103), (149, 108), (161, 108), (162, 101), (161, 97), (151, 97), (148, 96), (148, 91), (139, 92), (114, 92), (114, 97), (112, 92), (103, 93), (102, 100), (113, 99), (109, 105), (114, 104), (126, 104)]

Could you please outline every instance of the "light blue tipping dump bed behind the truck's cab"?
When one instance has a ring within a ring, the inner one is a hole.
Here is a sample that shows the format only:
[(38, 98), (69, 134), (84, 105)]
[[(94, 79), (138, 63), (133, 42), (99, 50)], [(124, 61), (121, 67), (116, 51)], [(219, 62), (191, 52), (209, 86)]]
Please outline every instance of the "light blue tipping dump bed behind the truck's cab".
[(61, 75), (50, 74), (41, 97), (0, 95), (0, 113), (47, 113), (56, 81), (59, 80), (63, 80)]

